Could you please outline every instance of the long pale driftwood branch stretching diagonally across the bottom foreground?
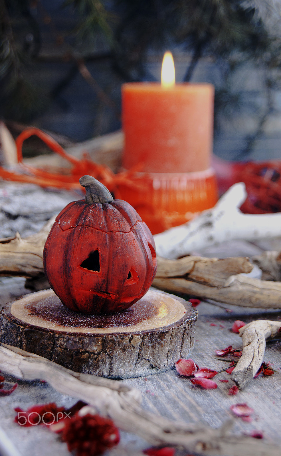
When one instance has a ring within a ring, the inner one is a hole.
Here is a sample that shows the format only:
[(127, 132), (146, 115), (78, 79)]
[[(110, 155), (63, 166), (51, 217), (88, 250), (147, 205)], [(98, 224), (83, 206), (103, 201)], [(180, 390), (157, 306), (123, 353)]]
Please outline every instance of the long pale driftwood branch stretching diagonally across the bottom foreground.
[[(2, 344), (3, 345), (3, 344)], [(246, 435), (230, 435), (231, 423), (219, 429), (167, 420), (140, 406), (140, 392), (124, 383), (76, 373), (15, 347), (0, 346), (0, 369), (17, 378), (41, 378), (62, 394), (82, 399), (93, 413), (111, 418), (121, 430), (152, 445), (183, 447), (203, 456), (281, 456), (281, 446)]]

